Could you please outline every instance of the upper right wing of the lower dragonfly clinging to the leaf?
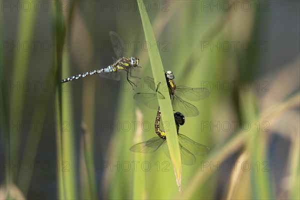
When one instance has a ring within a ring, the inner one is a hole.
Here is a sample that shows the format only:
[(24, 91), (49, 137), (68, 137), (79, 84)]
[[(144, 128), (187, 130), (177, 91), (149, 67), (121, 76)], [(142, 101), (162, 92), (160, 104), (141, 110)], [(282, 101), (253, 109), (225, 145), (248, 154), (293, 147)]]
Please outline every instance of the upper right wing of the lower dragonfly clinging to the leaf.
[(178, 141), (179, 143), (184, 146), (188, 151), (195, 155), (202, 155), (206, 156), (210, 153), (210, 148), (203, 144), (197, 143), (194, 140), (190, 139), (189, 137), (178, 134)]

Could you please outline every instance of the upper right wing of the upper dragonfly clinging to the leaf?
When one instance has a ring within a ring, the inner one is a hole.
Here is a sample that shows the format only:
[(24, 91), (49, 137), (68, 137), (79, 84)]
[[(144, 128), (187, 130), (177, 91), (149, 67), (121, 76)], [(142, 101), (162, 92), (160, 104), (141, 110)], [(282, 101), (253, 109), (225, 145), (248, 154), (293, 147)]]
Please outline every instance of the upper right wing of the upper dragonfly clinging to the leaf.
[(176, 86), (175, 93), (189, 100), (198, 101), (207, 98), (210, 95), (210, 91), (207, 88), (191, 88), (186, 86)]

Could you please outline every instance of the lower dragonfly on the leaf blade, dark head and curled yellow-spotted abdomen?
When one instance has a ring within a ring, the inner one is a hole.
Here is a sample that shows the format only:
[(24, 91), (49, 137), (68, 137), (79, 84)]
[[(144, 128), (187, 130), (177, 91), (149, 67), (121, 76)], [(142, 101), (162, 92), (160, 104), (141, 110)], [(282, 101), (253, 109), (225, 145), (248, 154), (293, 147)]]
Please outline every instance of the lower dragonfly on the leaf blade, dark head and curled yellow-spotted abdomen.
[[(133, 152), (141, 153), (152, 153), (156, 151), (159, 146), (163, 147), (163, 152), (170, 157), (169, 150), (166, 143), (166, 136), (164, 130), (159, 127), (159, 121), (161, 118), (160, 108), (157, 110), (155, 119), (155, 132), (158, 137), (152, 137), (147, 141), (142, 141), (140, 143), (134, 144), (130, 147)], [(192, 165), (196, 163), (195, 155), (206, 156), (210, 153), (211, 149), (208, 146), (197, 143), (189, 137), (179, 133), (179, 125), (183, 125), (185, 122), (184, 115), (180, 112), (174, 113), (175, 125), (178, 135), (179, 148), (181, 163), (186, 165)]]

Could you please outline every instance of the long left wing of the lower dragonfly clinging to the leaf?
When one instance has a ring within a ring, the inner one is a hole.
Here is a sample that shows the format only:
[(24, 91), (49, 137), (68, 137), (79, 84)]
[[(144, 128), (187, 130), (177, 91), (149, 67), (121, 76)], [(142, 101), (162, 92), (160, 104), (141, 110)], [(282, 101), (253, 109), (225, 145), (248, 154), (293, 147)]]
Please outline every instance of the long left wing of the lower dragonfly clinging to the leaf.
[(137, 144), (134, 144), (130, 147), (130, 150), (133, 152), (141, 152), (141, 153), (151, 153), (157, 150), (157, 148), (165, 142), (165, 139), (160, 137), (152, 137), (147, 141), (142, 141)]

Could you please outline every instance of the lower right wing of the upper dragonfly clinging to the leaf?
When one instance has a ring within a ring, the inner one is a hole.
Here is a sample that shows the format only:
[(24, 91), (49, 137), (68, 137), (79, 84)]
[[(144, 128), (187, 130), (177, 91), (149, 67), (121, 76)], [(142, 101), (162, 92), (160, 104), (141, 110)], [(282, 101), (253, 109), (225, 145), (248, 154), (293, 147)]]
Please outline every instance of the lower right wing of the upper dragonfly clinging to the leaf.
[(194, 105), (182, 100), (176, 94), (171, 95), (171, 101), (173, 109), (181, 112), (184, 116), (197, 116), (200, 113)]

